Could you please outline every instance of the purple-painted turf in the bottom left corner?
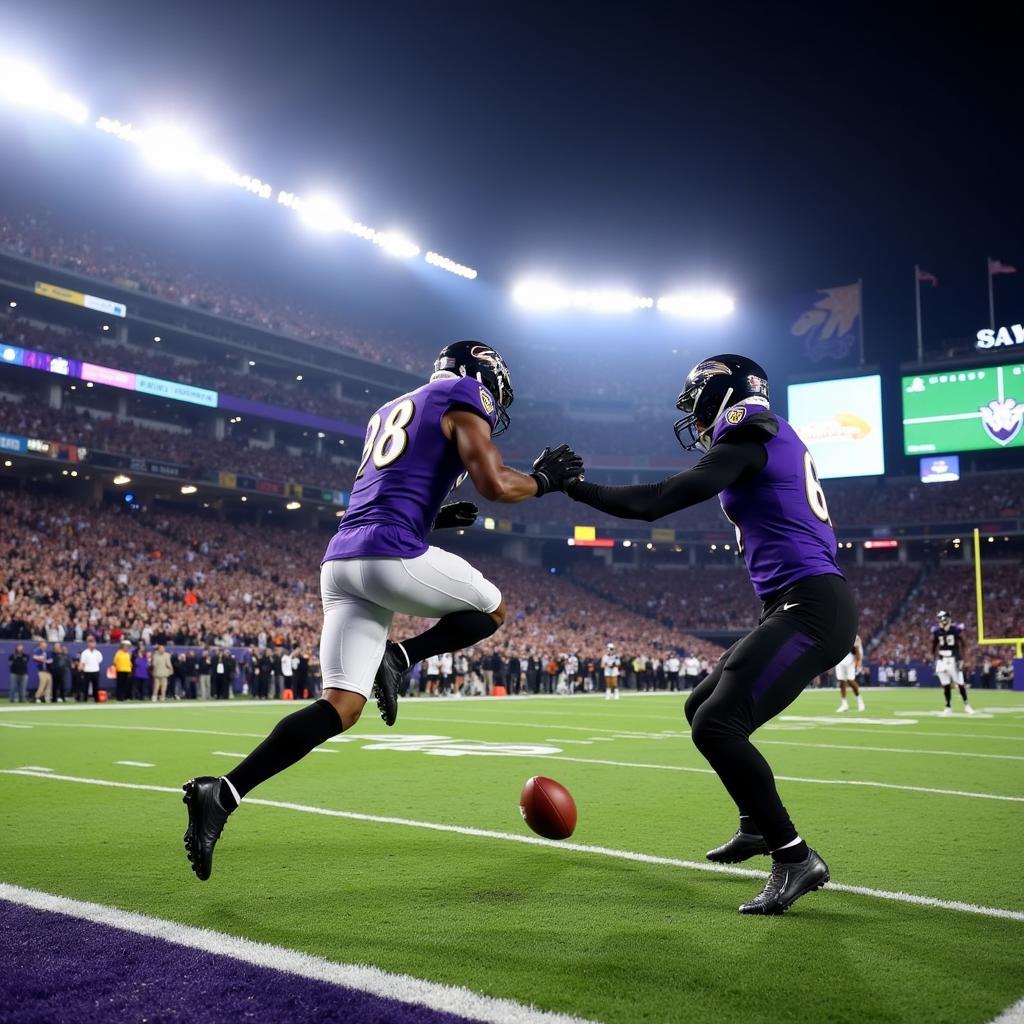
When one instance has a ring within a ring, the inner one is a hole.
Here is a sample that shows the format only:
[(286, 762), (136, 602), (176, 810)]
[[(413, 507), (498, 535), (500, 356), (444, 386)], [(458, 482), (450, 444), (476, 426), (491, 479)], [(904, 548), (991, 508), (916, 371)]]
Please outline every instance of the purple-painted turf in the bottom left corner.
[(0, 900), (0, 1024), (465, 1018)]

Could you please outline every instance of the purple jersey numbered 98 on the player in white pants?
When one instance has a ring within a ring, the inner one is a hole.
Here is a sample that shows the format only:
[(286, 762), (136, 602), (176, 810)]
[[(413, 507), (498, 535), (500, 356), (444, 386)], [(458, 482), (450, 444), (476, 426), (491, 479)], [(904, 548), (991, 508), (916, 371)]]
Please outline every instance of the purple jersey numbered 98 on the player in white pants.
[(324, 561), (416, 558), (437, 510), (463, 472), (441, 418), (464, 409), (494, 427), (495, 400), (472, 377), (443, 378), (400, 395), (370, 418), (362, 462)]

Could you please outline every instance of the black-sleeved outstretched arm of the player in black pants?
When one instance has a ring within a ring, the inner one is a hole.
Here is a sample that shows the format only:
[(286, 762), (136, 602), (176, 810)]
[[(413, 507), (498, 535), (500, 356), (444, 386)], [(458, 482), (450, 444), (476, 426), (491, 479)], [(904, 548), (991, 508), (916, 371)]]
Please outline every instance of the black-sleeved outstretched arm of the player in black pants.
[(569, 498), (599, 512), (622, 519), (653, 522), (680, 509), (714, 498), (744, 473), (757, 473), (767, 461), (760, 441), (716, 444), (692, 469), (658, 483), (638, 483), (622, 487), (581, 481), (566, 488)]

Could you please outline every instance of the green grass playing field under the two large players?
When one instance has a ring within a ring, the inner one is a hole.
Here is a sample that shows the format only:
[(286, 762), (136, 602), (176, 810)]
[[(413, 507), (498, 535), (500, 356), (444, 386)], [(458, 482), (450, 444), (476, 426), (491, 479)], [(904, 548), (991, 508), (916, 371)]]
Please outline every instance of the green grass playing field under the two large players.
[[(958, 702), (952, 718), (931, 717), (936, 690), (866, 697), (866, 713), (834, 716), (835, 691), (808, 691), (786, 714), (836, 724), (761, 730), (776, 773), (1024, 797), (1024, 760), (1013, 760), (1024, 758), (1021, 694), (977, 691), (979, 710), (1001, 713), (974, 718)], [(0, 768), (176, 786), (226, 771), (233, 759), (213, 752), (248, 752), (291, 710), (241, 700), (3, 709)], [(579, 805), (572, 842), (702, 860), (735, 827), (714, 775), (655, 767), (707, 767), (678, 696), (408, 701), (395, 730), (375, 718), (253, 796), (521, 833), (519, 790), (546, 774)], [(396, 733), (559, 753), (372, 749)], [(796, 745), (817, 743), (920, 753)], [(1022, 803), (806, 782), (780, 791), (837, 882), (1024, 910)], [(0, 820), (5, 882), (606, 1022), (964, 1024), (1024, 994), (1020, 921), (827, 889), (783, 918), (752, 920), (736, 906), (757, 880), (259, 806), (229, 821), (203, 884), (185, 861), (176, 796), (12, 775), (0, 775)]]

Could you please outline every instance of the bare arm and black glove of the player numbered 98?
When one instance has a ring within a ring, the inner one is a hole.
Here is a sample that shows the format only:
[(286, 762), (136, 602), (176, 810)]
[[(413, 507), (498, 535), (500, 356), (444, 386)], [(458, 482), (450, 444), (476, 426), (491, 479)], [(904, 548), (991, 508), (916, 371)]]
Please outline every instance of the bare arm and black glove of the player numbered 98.
[(489, 424), (475, 413), (447, 413), (442, 426), (445, 435), (456, 442), (473, 486), (489, 502), (514, 504), (540, 498), (564, 489), (583, 473), (583, 460), (564, 444), (554, 451), (545, 449), (530, 474), (506, 466), (490, 439)]

